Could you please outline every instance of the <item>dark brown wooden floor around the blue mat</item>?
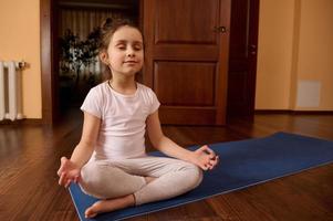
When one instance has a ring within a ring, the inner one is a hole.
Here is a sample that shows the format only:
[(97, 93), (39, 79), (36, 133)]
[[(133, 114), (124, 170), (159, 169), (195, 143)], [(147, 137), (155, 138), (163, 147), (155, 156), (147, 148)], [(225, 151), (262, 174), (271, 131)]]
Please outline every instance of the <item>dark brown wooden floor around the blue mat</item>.
[[(80, 139), (81, 117), (72, 113), (53, 128), (0, 125), (0, 221), (79, 220), (69, 192), (58, 186), (56, 170), (60, 157), (70, 156)], [(253, 124), (233, 119), (228, 127), (164, 127), (184, 146), (281, 130), (333, 140), (333, 116), (257, 115)], [(131, 220), (333, 220), (333, 164)]]

